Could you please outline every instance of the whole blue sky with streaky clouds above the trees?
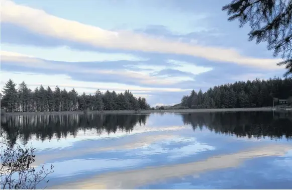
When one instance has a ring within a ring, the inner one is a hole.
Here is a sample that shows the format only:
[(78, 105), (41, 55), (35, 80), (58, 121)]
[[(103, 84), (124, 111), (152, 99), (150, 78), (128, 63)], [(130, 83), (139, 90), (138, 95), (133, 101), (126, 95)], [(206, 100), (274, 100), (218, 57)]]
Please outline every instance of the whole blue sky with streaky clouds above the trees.
[(151, 106), (238, 80), (281, 77), (281, 59), (229, 22), (230, 0), (0, 0), (1, 87), (129, 89)]

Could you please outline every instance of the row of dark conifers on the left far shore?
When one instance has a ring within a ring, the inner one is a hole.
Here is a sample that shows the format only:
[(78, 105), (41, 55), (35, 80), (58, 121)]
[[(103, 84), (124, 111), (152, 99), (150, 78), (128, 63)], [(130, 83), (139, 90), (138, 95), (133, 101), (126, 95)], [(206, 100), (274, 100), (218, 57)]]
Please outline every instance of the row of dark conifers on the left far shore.
[(115, 91), (101, 92), (96, 90), (94, 95), (79, 95), (73, 88), (67, 91), (58, 86), (54, 90), (42, 85), (34, 90), (28, 88), (23, 81), (19, 86), (9, 79), (1, 93), (1, 108), (7, 112), (60, 112), (80, 110), (148, 110), (149, 104), (145, 98), (134, 97), (133, 93)]

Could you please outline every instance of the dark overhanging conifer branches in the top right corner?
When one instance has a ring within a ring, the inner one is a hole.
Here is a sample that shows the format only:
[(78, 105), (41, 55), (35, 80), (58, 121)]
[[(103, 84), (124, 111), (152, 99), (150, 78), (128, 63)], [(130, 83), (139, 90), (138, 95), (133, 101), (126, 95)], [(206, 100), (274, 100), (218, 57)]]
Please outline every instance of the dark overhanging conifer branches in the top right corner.
[(229, 21), (239, 20), (240, 27), (249, 23), (249, 41), (267, 42), (267, 49), (279, 53), (285, 65), (284, 76), (292, 74), (292, 1), (291, 0), (233, 0), (222, 8)]

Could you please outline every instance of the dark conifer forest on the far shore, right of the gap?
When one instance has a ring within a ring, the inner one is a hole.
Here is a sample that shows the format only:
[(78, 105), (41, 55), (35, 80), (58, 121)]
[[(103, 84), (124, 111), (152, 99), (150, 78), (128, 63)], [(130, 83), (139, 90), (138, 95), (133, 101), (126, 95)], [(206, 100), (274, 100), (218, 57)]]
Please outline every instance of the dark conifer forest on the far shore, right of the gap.
[(292, 102), (292, 77), (268, 80), (237, 81), (214, 86), (205, 93), (192, 90), (189, 96), (181, 99), (182, 108), (254, 108), (276, 105), (277, 99), (289, 99)]

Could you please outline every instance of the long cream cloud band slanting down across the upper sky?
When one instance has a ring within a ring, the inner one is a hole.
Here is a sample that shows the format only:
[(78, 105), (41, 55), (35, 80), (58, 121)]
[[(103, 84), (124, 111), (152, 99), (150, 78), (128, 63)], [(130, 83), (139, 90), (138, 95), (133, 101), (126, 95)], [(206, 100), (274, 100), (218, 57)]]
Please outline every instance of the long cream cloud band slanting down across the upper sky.
[(33, 32), (54, 38), (79, 42), (94, 47), (191, 55), (208, 60), (232, 62), (264, 69), (281, 68), (275, 65), (280, 59), (251, 58), (240, 55), (234, 49), (190, 45), (127, 31), (112, 32), (76, 21), (58, 18), (42, 10), (17, 5), (12, 1), (1, 0), (1, 4), (1, 22), (13, 23)]

